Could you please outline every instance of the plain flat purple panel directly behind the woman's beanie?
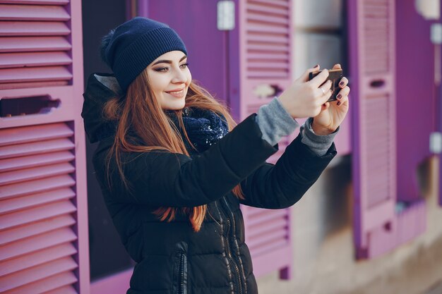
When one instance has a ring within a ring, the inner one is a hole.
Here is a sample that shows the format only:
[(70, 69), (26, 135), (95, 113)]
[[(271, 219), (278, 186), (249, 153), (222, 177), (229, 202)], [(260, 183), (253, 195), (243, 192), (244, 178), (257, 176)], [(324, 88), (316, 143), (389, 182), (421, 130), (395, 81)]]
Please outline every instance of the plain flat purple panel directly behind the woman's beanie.
[(176, 30), (186, 44), (193, 80), (227, 103), (228, 33), (217, 30), (217, 1), (143, 0), (138, 2), (138, 16), (167, 23)]

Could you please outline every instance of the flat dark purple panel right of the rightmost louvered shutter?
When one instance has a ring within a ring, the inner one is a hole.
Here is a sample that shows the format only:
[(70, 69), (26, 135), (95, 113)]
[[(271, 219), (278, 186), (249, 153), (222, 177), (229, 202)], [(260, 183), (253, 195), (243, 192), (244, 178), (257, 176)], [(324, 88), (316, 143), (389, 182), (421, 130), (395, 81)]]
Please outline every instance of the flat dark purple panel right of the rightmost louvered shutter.
[(431, 156), (429, 137), (435, 130), (435, 46), (430, 39), (431, 22), (417, 13), (414, 1), (396, 6), (396, 23), (398, 200), (412, 202), (421, 196), (416, 170)]

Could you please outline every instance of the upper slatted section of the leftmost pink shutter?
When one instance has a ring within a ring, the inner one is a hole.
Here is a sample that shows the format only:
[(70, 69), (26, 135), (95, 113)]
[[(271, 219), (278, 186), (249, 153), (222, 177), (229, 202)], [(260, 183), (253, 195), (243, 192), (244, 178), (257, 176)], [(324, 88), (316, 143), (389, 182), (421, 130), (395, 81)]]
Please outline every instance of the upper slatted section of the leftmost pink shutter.
[(0, 89), (71, 82), (68, 3), (0, 1)]

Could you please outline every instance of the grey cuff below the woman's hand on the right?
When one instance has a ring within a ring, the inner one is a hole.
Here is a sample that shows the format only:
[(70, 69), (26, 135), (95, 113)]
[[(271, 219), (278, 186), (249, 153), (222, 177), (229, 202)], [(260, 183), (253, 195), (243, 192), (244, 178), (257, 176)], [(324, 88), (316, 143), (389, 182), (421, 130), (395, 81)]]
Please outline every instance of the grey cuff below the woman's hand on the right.
[(318, 154), (318, 156), (323, 156), (333, 144), (333, 139), (338, 133), (340, 126), (338, 126), (338, 128), (329, 135), (316, 135), (311, 128), (312, 121), (313, 118), (308, 118), (301, 125), (301, 128), (299, 128), (299, 133), (302, 135), (301, 142), (309, 146), (313, 152)]

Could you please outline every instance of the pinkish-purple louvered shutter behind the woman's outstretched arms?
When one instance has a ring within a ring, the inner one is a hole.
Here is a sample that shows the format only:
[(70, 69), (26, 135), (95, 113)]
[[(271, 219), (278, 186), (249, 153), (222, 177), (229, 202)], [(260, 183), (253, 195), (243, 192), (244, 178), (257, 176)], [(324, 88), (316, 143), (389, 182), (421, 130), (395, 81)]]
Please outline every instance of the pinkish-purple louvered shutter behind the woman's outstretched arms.
[[(239, 120), (270, 102), (274, 94), (259, 97), (257, 88), (285, 89), (292, 81), (292, 1), (241, 0), (239, 15)], [(294, 136), (279, 143), (275, 163)], [(267, 210), (241, 207), (246, 225), (246, 243), (256, 276), (280, 270), (290, 278), (292, 241), (290, 209)]]

